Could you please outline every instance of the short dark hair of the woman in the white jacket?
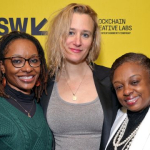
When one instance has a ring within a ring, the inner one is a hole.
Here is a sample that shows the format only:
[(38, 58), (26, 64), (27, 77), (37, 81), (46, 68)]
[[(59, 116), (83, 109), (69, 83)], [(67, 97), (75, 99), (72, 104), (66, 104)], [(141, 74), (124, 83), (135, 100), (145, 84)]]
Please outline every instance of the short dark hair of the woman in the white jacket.
[(143, 66), (150, 74), (150, 59), (141, 53), (126, 53), (121, 57), (117, 58), (115, 62), (112, 64), (110, 71), (110, 79), (113, 80), (115, 70), (121, 66), (125, 62), (135, 62), (141, 66)]

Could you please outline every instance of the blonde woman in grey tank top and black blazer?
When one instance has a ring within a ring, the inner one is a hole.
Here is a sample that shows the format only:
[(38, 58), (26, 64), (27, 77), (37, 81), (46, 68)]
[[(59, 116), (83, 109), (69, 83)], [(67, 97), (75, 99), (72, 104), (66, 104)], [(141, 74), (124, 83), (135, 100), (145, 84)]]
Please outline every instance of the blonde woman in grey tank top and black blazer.
[(94, 64), (100, 52), (96, 12), (88, 5), (67, 5), (51, 20), (46, 45), (48, 95), (41, 105), (55, 149), (104, 149), (118, 107), (109, 69)]

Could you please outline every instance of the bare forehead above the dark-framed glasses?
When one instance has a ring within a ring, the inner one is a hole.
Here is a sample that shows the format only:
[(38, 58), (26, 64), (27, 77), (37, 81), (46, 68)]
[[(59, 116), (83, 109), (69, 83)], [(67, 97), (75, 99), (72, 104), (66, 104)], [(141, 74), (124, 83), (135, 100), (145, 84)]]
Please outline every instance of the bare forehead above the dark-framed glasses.
[(28, 39), (16, 39), (9, 43), (6, 55), (38, 54), (35, 44)]

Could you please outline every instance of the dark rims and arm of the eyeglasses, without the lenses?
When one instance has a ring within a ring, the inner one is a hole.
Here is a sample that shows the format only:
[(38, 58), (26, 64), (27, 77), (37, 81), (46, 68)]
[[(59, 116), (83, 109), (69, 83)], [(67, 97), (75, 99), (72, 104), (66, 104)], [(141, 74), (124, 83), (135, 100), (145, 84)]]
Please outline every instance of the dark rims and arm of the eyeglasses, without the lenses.
[[(34, 57), (39, 58), (39, 60), (40, 60), (40, 58), (41, 58), (40, 56), (34, 56)], [(30, 60), (31, 60), (32, 58), (34, 58), (34, 57), (31, 57), (31, 58), (28, 58), (28, 59), (26, 59), (26, 58), (24, 58), (24, 57), (6, 57), (6, 58), (3, 58), (3, 60), (5, 60), (5, 59), (10, 59), (12, 65), (13, 65), (15, 68), (22, 68), (22, 67), (24, 67), (26, 61), (28, 61), (28, 64), (29, 64), (31, 67), (36, 68), (36, 67), (39, 67), (39, 66), (41, 65), (41, 60), (40, 60), (40, 64), (39, 64), (38, 66), (34, 67), (34, 66), (32, 66), (32, 65), (30, 64)], [(13, 58), (22, 58), (22, 59), (24, 59), (24, 60), (25, 60), (25, 61), (24, 61), (24, 64), (23, 64), (21, 67), (16, 67), (16, 66), (13, 64), (13, 62), (12, 62), (12, 59), (13, 59)]]

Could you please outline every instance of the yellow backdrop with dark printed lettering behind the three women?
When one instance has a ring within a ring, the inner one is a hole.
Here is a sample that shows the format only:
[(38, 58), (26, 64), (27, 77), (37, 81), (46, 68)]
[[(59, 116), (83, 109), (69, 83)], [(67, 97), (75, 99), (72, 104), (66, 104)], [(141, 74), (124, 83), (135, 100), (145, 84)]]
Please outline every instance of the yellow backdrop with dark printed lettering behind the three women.
[(50, 16), (69, 3), (90, 5), (98, 14), (101, 52), (97, 64), (111, 67), (127, 52), (150, 57), (149, 0), (0, 0), (0, 36), (12, 30), (24, 31), (44, 48)]

